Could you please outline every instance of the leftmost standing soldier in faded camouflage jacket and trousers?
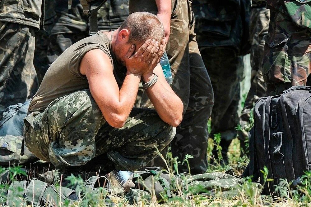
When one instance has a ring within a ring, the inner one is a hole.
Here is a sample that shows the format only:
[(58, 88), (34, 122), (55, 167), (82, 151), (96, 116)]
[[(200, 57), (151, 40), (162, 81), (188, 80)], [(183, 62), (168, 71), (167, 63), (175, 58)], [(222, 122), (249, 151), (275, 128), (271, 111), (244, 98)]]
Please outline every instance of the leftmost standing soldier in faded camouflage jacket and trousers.
[(0, 117), (9, 105), (24, 103), (38, 89), (33, 60), (41, 4), (42, 0), (0, 2)]

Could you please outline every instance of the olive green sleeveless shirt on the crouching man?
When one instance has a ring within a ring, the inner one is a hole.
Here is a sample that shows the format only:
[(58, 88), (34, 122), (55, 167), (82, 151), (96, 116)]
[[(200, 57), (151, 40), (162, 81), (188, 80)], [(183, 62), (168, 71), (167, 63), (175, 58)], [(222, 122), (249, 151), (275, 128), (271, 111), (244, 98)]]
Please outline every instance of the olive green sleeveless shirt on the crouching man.
[(79, 66), (83, 56), (94, 49), (100, 49), (108, 55), (114, 70), (114, 77), (118, 86), (121, 87), (126, 68), (117, 64), (109, 38), (103, 31), (100, 31), (70, 46), (51, 64), (37, 93), (30, 102), (28, 113), (42, 112), (59, 97), (78, 90), (89, 89), (87, 78), (80, 73)]

